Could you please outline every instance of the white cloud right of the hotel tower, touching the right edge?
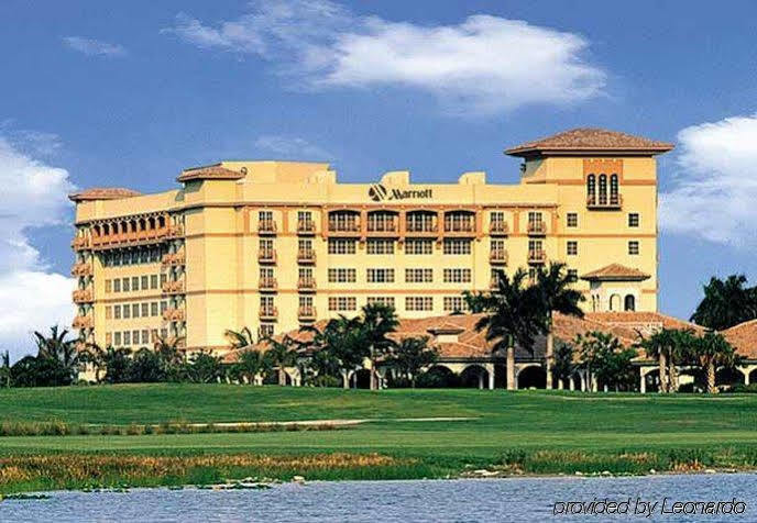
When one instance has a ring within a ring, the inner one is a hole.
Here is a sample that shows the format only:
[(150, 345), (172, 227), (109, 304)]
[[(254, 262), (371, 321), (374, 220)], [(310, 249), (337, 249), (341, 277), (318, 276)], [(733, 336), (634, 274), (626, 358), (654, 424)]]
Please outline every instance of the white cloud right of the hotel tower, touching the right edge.
[(672, 233), (734, 246), (757, 235), (757, 114), (685, 127), (673, 188), (660, 194), (660, 224)]

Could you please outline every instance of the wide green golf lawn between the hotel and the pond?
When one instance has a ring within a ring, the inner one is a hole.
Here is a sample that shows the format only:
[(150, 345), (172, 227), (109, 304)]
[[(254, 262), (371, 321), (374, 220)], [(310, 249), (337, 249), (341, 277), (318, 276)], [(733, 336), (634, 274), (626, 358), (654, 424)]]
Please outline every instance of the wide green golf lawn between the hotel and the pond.
[[(439, 466), (435, 470), (447, 474), (460, 471), (465, 464), (476, 467), (502, 464), (503, 455), (512, 455), (513, 452), (525, 453), (518, 454), (516, 461), (518, 468), (527, 472), (581, 469), (581, 465), (566, 458), (570, 453), (573, 457), (575, 453), (594, 455), (582, 455), (579, 459), (599, 459), (599, 464), (586, 465), (589, 471), (596, 467), (611, 467), (605, 458), (627, 453), (657, 453), (659, 459), (654, 461), (657, 467), (673, 469), (679, 467), (677, 464), (681, 459), (694, 465), (699, 461), (743, 468), (757, 465), (757, 397), (748, 394), (659, 397), (503, 390), (372, 392), (288, 387), (134, 385), (3, 389), (0, 390), (0, 422), (61, 420), (67, 423), (145, 424), (179, 420), (380, 420), (323, 432), (2, 437), (0, 458), (57, 453), (150, 456), (378, 453), (416, 464)], [(475, 419), (396, 421), (434, 416)], [(539, 452), (545, 450), (562, 453), (562, 457), (539, 458)], [(704, 454), (685, 454), (691, 452)], [(539, 459), (555, 463), (537, 464)], [(647, 467), (646, 461), (635, 468), (623, 466), (618, 470), (643, 471), (644, 467)], [(404, 477), (393, 470), (394, 476), (390, 477)], [(423, 470), (423, 475), (428, 474), (431, 474), (428, 469)]]

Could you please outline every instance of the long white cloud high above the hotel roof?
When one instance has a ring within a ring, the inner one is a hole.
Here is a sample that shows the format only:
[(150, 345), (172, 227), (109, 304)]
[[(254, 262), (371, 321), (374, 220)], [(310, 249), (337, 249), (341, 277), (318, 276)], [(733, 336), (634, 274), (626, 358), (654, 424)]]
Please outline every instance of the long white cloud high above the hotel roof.
[(216, 26), (179, 14), (164, 30), (202, 48), (261, 56), (296, 86), (401, 86), (456, 112), (494, 113), (531, 103), (572, 104), (602, 93), (606, 75), (586, 62), (580, 35), (479, 14), (457, 25), (356, 16), (328, 0), (254, 2)]

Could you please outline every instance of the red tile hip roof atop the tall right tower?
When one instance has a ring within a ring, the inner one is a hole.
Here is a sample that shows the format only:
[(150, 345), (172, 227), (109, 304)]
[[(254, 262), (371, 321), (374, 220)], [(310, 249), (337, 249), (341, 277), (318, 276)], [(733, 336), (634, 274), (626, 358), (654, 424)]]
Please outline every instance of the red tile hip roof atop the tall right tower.
[(511, 156), (535, 156), (567, 153), (659, 154), (672, 149), (667, 142), (634, 136), (606, 129), (571, 129), (545, 138), (526, 142), (505, 151)]

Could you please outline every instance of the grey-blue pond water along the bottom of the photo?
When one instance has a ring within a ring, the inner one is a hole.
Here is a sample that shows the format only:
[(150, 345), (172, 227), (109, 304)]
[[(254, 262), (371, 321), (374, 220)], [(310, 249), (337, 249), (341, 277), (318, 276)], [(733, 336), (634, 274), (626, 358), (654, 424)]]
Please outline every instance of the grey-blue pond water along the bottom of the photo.
[[(213, 491), (186, 488), (133, 489), (129, 492), (52, 492), (51, 498), (45, 500), (0, 502), (0, 521), (757, 521), (756, 486), (757, 475), (716, 474), (622, 478), (316, 481), (306, 485), (285, 483), (270, 490)], [(603, 503), (605, 500), (607, 503)], [(592, 501), (597, 502), (591, 504)], [(569, 502), (584, 504), (569, 505)], [(709, 502), (713, 504), (704, 504)], [(714, 504), (717, 502), (722, 503)], [(672, 513), (677, 508), (680, 513)], [(621, 513), (607, 514), (608, 510)], [(718, 510), (721, 513), (701, 513), (707, 510)], [(590, 512), (589, 515), (585, 514), (586, 511)], [(739, 511), (740, 513), (736, 513)], [(651, 515), (647, 518), (649, 514)]]

